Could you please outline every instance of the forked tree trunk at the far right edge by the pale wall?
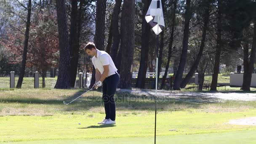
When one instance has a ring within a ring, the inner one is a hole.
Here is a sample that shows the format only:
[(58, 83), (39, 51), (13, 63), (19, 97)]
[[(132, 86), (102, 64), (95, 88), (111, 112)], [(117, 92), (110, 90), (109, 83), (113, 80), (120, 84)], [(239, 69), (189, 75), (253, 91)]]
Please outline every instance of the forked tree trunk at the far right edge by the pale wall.
[[(250, 61), (248, 61), (248, 48), (244, 50), (244, 74), (243, 74), (243, 91), (250, 91), (251, 77), (253, 72), (253, 64), (256, 52), (256, 19), (253, 20), (253, 44), (251, 48)], [(245, 49), (245, 48), (244, 48)], [(246, 56), (246, 57), (245, 57)], [(245, 68), (246, 67), (246, 68)]]

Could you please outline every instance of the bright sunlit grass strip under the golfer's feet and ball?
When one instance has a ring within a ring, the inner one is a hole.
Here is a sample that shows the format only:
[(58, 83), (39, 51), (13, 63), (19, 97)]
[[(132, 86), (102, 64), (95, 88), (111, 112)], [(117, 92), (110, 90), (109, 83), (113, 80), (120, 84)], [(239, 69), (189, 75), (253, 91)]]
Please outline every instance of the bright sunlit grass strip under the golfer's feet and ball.
[[(252, 117), (256, 111), (206, 113), (179, 111), (157, 115), (157, 136), (256, 130), (251, 125), (230, 125), (228, 121)], [(103, 139), (154, 136), (154, 113), (120, 115), (117, 124), (97, 125), (104, 114), (0, 117), (1, 142), (67, 139)], [(81, 125), (78, 125), (81, 123)], [(109, 134), (111, 132), (111, 134)]]

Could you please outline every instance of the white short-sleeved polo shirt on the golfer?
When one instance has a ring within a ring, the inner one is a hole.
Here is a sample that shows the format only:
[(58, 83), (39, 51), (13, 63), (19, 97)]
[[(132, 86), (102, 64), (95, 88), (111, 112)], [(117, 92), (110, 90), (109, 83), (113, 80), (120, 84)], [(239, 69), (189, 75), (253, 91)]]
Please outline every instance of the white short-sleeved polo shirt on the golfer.
[(103, 74), (105, 65), (109, 65), (109, 73), (107, 76), (114, 75), (117, 71), (117, 68), (115, 67), (115, 64), (109, 56), (109, 54), (105, 51), (99, 51), (97, 50), (97, 57), (93, 56), (92, 58), (93, 66), (95, 69), (98, 69), (101, 75)]

